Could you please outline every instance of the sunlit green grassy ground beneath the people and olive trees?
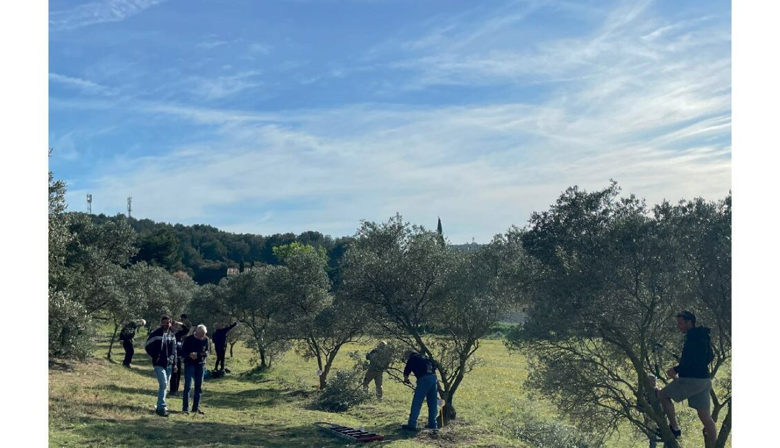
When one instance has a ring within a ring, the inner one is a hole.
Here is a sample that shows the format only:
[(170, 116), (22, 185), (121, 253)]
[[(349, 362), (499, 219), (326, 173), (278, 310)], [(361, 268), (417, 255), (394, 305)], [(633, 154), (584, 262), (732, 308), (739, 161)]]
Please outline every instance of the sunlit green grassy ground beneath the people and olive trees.
[[(137, 337), (137, 345), (144, 336)], [(374, 446), (526, 446), (505, 429), (502, 422), (516, 416), (518, 407), (534, 407), (555, 419), (549, 404), (534, 402), (523, 390), (526, 365), (522, 357), (509, 355), (501, 340), (486, 340), (477, 354), (485, 364), (466, 376), (456, 395), (459, 418), (442, 429), (406, 434), (410, 390), (385, 379), (385, 400), (372, 401), (350, 411), (332, 414), (312, 405), (317, 393), (317, 369), (293, 352), (260, 376), (242, 375), (251, 369), (251, 352), (236, 344), (235, 358), (228, 358), (231, 373), (204, 382), (201, 407), (206, 415), (185, 415), (181, 398), (169, 397), (170, 417), (154, 414), (157, 381), (149, 358), (137, 348), (131, 369), (121, 365), (122, 348), (115, 347), (114, 361), (105, 359), (108, 344), (101, 344), (87, 363), (55, 362), (49, 370), (50, 446), (349, 446), (349, 442), (317, 430), (313, 422), (335, 422), (388, 439)], [(335, 367), (347, 368), (346, 351), (366, 351), (369, 346), (346, 347)], [(213, 365), (211, 365), (213, 367)], [(372, 384), (373, 390), (373, 384)], [(182, 384), (179, 391), (183, 389)], [(683, 446), (700, 446), (700, 424), (695, 415), (679, 406), (681, 423), (688, 431)], [(426, 413), (423, 407), (421, 414)], [(420, 419), (421, 424), (424, 421)], [(697, 437), (698, 436), (698, 437)], [(647, 446), (628, 430), (608, 446)]]

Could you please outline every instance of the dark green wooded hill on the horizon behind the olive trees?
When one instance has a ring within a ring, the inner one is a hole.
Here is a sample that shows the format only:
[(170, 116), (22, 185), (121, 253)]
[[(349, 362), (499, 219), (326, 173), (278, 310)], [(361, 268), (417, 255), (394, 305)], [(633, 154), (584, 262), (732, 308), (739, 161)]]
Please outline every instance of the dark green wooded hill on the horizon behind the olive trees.
[[(273, 252), (274, 247), (300, 242), (325, 249), (328, 254), (328, 277), (336, 285), (339, 282), (339, 259), (353, 241), (349, 236), (333, 238), (318, 231), (305, 231), (300, 235), (284, 233), (264, 236), (235, 234), (204, 224), (186, 226), (139, 220), (122, 214), (106, 216), (101, 213), (90, 217), (95, 224), (126, 220), (138, 234), (139, 250), (133, 257), (133, 263), (145, 261), (169, 272), (183, 271), (198, 284), (218, 284), (231, 267), (243, 272), (254, 266), (279, 264)], [(455, 247), (473, 250), (479, 245), (470, 243)]]

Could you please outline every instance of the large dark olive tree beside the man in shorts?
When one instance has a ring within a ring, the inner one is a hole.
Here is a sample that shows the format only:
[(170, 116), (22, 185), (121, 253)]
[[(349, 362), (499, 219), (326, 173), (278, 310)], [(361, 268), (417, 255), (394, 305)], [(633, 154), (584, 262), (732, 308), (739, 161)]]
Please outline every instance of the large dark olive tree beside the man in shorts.
[[(672, 366), (661, 368), (653, 347), (679, 341), (676, 313), (707, 309), (690, 275), (710, 269), (690, 259), (706, 239), (692, 235), (705, 229), (680, 228), (684, 208), (663, 204), (651, 213), (643, 200), (619, 197), (614, 182), (595, 192), (575, 186), (519, 232), (537, 273), (527, 323), (507, 343), (530, 359), (527, 385), (596, 439), (629, 422), (645, 436), (660, 428), (665, 443), (678, 446), (644, 379)], [(721, 226), (719, 236), (711, 235), (721, 238), (725, 224), (702, 224), (710, 225)], [(719, 250), (730, 252), (730, 243), (722, 243)], [(704, 253), (700, 260), (710, 256)], [(724, 298), (712, 298), (711, 316), (724, 311)], [(730, 357), (730, 343), (722, 356)]]

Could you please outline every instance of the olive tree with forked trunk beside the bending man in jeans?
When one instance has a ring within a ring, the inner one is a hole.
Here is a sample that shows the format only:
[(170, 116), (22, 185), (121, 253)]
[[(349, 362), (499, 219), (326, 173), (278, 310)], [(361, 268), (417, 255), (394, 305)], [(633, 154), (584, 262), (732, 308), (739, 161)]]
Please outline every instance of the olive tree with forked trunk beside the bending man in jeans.
[(518, 277), (509, 270), (526, 257), (501, 237), (473, 254), (441, 241), (397, 214), (381, 224), (363, 221), (342, 264), (340, 293), (381, 333), (431, 359), (445, 418), (452, 419), (456, 391), (477, 365), (480, 337), (519, 300), (505, 280)]

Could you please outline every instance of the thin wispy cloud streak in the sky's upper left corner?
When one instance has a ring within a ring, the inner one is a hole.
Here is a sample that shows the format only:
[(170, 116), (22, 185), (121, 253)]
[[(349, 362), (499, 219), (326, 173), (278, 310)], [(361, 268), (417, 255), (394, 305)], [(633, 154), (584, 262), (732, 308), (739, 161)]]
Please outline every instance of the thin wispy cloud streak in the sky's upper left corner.
[(49, 29), (74, 30), (96, 23), (119, 22), (167, 0), (105, 0), (49, 12)]

